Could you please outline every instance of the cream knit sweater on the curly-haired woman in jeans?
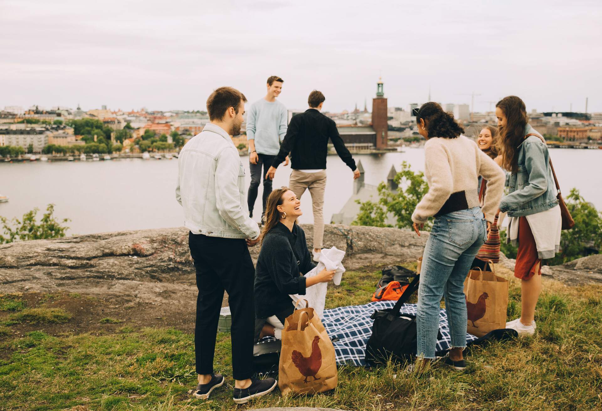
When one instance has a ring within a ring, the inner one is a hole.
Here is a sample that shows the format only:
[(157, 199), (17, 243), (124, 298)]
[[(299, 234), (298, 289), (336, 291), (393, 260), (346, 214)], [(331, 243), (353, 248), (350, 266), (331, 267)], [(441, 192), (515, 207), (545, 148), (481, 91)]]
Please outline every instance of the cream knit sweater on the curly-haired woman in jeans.
[(433, 137), (424, 144), (426, 180), (429, 192), (418, 203), (412, 221), (424, 223), (437, 214), (453, 193), (462, 194), (467, 208), (479, 205), (479, 176), (487, 180), (483, 213), (493, 222), (504, 190), (506, 176), (477, 144), (461, 135), (458, 138)]

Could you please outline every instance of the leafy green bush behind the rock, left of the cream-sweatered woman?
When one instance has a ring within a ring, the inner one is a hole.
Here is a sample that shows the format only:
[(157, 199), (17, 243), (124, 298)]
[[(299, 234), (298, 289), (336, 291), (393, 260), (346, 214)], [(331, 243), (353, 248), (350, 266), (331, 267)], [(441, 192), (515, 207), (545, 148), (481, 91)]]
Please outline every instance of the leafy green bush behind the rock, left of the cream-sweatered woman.
[[(397, 228), (412, 227), (412, 212), (429, 191), (429, 185), (424, 179), (424, 173), (414, 173), (406, 161), (402, 162), (402, 170), (397, 173), (394, 181), (399, 186), (396, 193), (390, 191), (387, 185), (381, 182), (377, 189), (378, 203), (359, 202), (360, 212), (353, 225), (385, 227), (386, 215), (390, 213), (397, 219)], [(429, 229), (431, 224), (427, 222), (424, 226)]]

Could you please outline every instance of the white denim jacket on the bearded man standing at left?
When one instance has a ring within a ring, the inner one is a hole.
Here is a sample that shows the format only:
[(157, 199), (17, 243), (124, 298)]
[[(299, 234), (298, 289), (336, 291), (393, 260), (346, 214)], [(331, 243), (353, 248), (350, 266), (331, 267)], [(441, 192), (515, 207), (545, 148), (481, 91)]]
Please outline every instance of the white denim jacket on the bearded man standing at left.
[(208, 123), (182, 148), (176, 200), (184, 208), (184, 226), (194, 234), (257, 238), (245, 187), (243, 162), (221, 127)]

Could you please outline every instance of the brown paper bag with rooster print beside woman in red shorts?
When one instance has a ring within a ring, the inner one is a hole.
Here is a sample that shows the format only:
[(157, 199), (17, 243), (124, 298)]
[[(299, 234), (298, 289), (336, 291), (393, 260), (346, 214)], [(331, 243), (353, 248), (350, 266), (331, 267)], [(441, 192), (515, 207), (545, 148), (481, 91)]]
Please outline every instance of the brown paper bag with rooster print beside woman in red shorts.
[[(493, 264), (491, 269), (494, 270)], [(508, 281), (495, 271), (470, 270), (464, 280), (468, 332), (482, 337), (492, 330), (506, 328)]]

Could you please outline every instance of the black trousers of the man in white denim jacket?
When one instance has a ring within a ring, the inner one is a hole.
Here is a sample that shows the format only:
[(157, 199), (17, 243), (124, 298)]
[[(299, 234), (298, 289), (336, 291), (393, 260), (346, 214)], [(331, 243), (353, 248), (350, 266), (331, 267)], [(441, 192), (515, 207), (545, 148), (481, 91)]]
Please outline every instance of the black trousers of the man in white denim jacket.
[(246, 380), (253, 375), (255, 267), (244, 239), (188, 235), (196, 268), (196, 326), (194, 353), (197, 374), (213, 373), (217, 323), (224, 290), (228, 292), (232, 326), (232, 376)]

